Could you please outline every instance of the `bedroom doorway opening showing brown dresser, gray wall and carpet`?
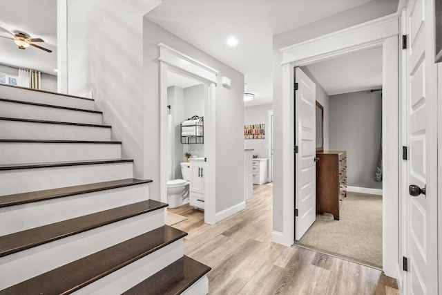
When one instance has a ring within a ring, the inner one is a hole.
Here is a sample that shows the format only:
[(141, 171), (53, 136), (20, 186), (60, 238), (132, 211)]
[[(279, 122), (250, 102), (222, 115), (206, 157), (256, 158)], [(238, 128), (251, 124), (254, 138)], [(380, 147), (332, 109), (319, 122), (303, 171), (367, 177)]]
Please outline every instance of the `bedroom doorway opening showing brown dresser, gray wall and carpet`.
[[(302, 237), (295, 235), (296, 245), (378, 269), (383, 259), (382, 55), (382, 47), (369, 48), (301, 67), (316, 87), (316, 220)], [(295, 95), (298, 99), (298, 91)]]

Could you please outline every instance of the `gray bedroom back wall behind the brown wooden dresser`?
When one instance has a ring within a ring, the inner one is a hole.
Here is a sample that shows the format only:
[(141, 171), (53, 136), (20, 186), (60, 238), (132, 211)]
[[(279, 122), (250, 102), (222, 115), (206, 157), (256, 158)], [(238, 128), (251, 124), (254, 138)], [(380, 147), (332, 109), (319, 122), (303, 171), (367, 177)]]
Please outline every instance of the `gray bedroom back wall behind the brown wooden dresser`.
[(382, 189), (374, 181), (382, 130), (381, 92), (330, 95), (332, 151), (347, 151), (347, 185)]

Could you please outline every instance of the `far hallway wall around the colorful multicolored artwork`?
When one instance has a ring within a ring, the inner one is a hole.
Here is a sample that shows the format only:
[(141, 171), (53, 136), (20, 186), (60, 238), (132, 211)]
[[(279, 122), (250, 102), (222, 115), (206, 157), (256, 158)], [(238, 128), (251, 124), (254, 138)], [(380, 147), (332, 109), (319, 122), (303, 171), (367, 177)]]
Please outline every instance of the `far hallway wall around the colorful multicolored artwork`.
[(244, 125), (265, 124), (265, 139), (244, 140), (244, 149), (254, 149), (253, 155), (259, 158), (269, 158), (269, 117), (267, 111), (272, 110), (272, 104), (244, 107)]

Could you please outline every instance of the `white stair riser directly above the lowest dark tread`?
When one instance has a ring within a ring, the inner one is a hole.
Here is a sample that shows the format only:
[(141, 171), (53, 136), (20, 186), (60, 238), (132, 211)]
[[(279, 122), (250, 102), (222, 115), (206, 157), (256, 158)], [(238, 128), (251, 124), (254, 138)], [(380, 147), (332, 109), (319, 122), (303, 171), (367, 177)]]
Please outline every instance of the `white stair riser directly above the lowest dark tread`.
[(160, 271), (167, 265), (175, 262), (183, 256), (182, 239), (173, 242), (171, 245), (153, 252), (130, 265), (126, 265), (116, 272), (108, 274), (104, 278), (86, 285), (74, 292), (75, 295), (111, 295), (122, 294), (122, 292), (131, 289), (131, 287), (142, 282), (149, 276)]

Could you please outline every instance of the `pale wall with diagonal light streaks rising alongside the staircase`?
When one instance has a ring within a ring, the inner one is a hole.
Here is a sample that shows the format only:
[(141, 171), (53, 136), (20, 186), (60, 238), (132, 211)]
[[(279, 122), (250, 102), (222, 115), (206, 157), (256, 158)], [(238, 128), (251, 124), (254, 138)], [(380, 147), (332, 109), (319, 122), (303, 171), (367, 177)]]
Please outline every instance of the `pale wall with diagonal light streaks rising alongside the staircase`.
[[(135, 0), (68, 0), (68, 93), (93, 91), (104, 123), (122, 140), (122, 157), (134, 160), (135, 178), (152, 179), (151, 198), (159, 199), (158, 108), (147, 102), (145, 88), (158, 88), (144, 77), (144, 15), (160, 3)], [(64, 59), (60, 52), (60, 59)], [(74, 64), (73, 64), (74, 63)], [(156, 103), (154, 105), (157, 106)], [(154, 115), (152, 115), (154, 113)]]

